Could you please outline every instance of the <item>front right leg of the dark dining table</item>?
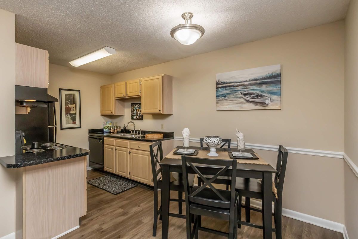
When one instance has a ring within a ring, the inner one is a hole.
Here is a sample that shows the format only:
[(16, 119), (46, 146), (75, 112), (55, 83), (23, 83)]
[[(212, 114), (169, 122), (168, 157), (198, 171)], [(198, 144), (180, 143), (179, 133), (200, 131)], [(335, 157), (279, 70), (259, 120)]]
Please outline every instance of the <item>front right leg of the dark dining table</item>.
[(262, 193), (263, 238), (272, 239), (272, 173), (270, 172), (263, 172)]

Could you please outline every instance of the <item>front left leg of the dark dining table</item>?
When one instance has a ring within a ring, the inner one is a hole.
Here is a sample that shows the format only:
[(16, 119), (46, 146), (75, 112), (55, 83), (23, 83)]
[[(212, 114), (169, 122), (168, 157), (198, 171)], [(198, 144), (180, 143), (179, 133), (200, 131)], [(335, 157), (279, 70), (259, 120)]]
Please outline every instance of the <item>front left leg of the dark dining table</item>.
[(163, 187), (161, 188), (162, 198), (162, 239), (168, 239), (169, 231), (169, 196), (170, 196), (170, 171), (169, 166), (162, 166)]

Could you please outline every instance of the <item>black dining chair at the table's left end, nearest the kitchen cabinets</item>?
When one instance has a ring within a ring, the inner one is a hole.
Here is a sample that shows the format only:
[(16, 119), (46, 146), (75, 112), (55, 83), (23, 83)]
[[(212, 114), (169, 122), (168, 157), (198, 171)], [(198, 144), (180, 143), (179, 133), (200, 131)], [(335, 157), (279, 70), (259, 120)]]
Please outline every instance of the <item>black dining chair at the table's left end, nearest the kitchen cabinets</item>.
[[(163, 159), (163, 147), (161, 144), (161, 140), (154, 142), (153, 144), (149, 145), (149, 151), (150, 151), (150, 160), (151, 160), (151, 166), (152, 166), (152, 175), (153, 175), (153, 190), (154, 190), (154, 221), (153, 221), (153, 236), (156, 236), (156, 229), (158, 224), (158, 215), (162, 214), (162, 207), (161, 207), (161, 201), (160, 198), (160, 207), (158, 209), (158, 189), (162, 188), (163, 181), (161, 180), (161, 171), (162, 168), (159, 164), (159, 162)], [(179, 160), (179, 159), (178, 159)], [(159, 167), (158, 167), (159, 166)], [(171, 191), (177, 191), (178, 192), (178, 199), (170, 199), (169, 201), (178, 202), (178, 213), (169, 213), (169, 216), (173, 216), (176, 218), (183, 218), (185, 219), (186, 216), (182, 215), (183, 210), (183, 192), (184, 192), (184, 181), (183, 181), (183, 174), (181, 173), (172, 173), (173, 177), (176, 179), (174, 182), (170, 182), (170, 190)], [(189, 187), (193, 187), (194, 184), (194, 176), (195, 175), (189, 175), (188, 183)], [(161, 195), (161, 194), (160, 194)], [(161, 216), (160, 216), (161, 219)]]

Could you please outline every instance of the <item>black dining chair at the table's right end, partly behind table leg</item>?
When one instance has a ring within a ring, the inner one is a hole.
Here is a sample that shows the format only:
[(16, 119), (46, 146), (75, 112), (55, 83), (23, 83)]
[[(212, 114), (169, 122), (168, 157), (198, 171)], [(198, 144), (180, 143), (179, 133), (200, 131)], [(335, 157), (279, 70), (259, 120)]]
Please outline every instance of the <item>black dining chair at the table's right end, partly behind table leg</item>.
[[(282, 192), (284, 188), (284, 180), (285, 180), (285, 173), (286, 173), (286, 166), (287, 166), (287, 157), (288, 152), (285, 147), (282, 145), (279, 146), (279, 152), (277, 155), (277, 165), (276, 165), (276, 173), (274, 177), (274, 182), (272, 182), (277, 189), (277, 199), (276, 195), (272, 193), (272, 201), (274, 202), (274, 221), (275, 221), (275, 228), (272, 231), (276, 232), (276, 239), (282, 238)], [(260, 225), (250, 223), (250, 210), (261, 212), (261, 209), (253, 208), (250, 206), (250, 198), (253, 199), (261, 199), (262, 200), (262, 192), (261, 192), (261, 182), (256, 179), (249, 179), (249, 178), (237, 178), (236, 180), (236, 191), (239, 193), (238, 201), (241, 202), (242, 197), (245, 197), (245, 206), (242, 206), (239, 203), (238, 206), (238, 224), (239, 228), (240, 225), (252, 226), (254, 228), (263, 227)], [(245, 208), (245, 221), (241, 221), (241, 208)]]

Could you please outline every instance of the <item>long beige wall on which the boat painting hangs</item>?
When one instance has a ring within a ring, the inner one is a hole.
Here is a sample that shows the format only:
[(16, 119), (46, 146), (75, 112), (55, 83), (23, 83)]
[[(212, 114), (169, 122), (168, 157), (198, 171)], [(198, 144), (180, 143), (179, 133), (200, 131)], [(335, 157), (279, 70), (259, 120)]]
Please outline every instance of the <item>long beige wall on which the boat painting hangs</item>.
[[(216, 111), (216, 73), (272, 64), (282, 64), (281, 110)], [(174, 77), (174, 114), (144, 115), (135, 121), (136, 129), (160, 130), (164, 123), (175, 136), (188, 127), (192, 138), (235, 139), (238, 128), (247, 143), (344, 150), (343, 21), (120, 73), (112, 80), (161, 73)], [(140, 101), (126, 101), (125, 116), (115, 119), (121, 125), (130, 121), (131, 102)], [(275, 165), (275, 152), (257, 151)], [(284, 208), (344, 223), (343, 166), (342, 159), (290, 154)]]

